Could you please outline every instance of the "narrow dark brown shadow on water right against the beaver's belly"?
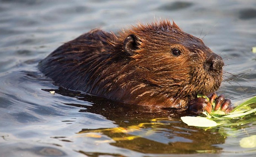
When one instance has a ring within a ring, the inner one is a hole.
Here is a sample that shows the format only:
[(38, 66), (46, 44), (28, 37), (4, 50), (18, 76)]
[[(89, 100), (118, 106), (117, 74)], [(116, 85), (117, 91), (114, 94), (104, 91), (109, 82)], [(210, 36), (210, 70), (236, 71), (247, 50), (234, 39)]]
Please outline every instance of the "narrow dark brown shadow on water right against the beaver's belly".
[(106, 99), (100, 96), (92, 96), (83, 94), (79, 91), (71, 91), (59, 87), (56, 89), (42, 89), (44, 91), (55, 91), (55, 93), (62, 96), (75, 97), (78, 100), (90, 102), (93, 105), (81, 105), (74, 103), (66, 103), (65, 105), (80, 107), (79, 112), (90, 112), (94, 114), (100, 114), (112, 121), (120, 120), (149, 120), (158, 117), (181, 117), (186, 115), (185, 112), (180, 112), (177, 109), (164, 109), (161, 111), (152, 111), (146, 106), (130, 105), (122, 102)]

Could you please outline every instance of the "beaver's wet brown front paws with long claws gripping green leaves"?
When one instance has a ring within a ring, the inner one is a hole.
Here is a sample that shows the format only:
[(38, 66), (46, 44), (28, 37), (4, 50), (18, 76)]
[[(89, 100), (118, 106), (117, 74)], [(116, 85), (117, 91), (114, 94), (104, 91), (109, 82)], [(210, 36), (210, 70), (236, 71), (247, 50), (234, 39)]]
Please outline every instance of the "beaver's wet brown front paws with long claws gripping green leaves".
[(189, 102), (188, 111), (196, 114), (201, 114), (203, 111), (206, 111), (210, 114), (212, 112), (212, 103), (214, 100), (216, 100), (214, 111), (218, 110), (220, 107), (221, 111), (224, 111), (225, 113), (233, 110), (231, 100), (225, 99), (225, 96), (222, 94), (217, 97), (217, 94), (213, 93), (209, 99), (210, 101), (203, 97), (198, 97), (191, 100)]

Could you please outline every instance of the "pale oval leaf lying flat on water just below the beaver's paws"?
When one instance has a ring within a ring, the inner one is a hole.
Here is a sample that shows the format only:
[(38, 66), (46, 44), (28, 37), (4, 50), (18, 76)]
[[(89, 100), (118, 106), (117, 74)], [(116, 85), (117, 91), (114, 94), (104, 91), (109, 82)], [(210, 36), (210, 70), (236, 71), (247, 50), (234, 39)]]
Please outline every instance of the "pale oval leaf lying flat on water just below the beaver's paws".
[(218, 124), (210, 120), (206, 117), (191, 117), (191, 116), (185, 116), (181, 117), (181, 120), (186, 123), (188, 126), (196, 126), (196, 127), (215, 127)]

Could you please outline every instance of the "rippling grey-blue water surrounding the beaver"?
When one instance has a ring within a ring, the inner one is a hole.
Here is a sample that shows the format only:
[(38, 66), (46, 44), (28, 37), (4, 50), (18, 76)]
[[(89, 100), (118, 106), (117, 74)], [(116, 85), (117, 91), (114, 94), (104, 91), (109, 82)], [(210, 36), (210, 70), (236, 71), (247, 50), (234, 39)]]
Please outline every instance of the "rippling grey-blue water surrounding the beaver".
[(0, 156), (255, 156), (239, 140), (256, 135), (256, 123), (190, 127), (172, 112), (65, 90), (37, 69), (61, 43), (92, 28), (117, 31), (159, 18), (207, 34), (205, 44), (236, 75), (225, 73), (219, 93), (232, 102), (256, 95), (254, 0), (0, 0)]

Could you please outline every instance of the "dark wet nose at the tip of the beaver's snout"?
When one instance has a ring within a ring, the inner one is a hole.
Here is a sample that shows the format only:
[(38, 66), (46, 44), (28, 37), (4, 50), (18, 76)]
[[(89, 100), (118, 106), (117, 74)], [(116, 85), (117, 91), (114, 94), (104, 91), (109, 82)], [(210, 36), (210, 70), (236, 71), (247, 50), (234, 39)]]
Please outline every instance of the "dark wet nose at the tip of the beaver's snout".
[(215, 53), (209, 54), (209, 57), (207, 57), (205, 62), (205, 68), (207, 70), (221, 71), (223, 66), (224, 66), (224, 62), (219, 55)]

